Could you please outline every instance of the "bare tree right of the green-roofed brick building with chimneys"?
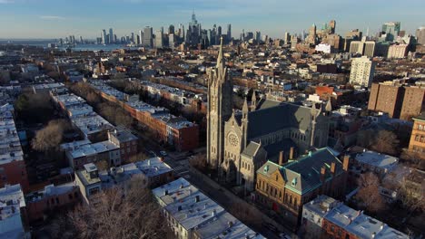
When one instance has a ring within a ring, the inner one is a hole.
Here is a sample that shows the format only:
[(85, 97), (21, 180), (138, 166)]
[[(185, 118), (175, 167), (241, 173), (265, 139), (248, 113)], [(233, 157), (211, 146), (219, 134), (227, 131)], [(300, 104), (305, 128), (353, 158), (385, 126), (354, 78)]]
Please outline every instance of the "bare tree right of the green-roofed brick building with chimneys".
[(385, 207), (385, 201), (380, 194), (380, 184), (380, 178), (371, 172), (362, 174), (359, 178), (360, 190), (356, 199), (371, 213), (380, 212)]

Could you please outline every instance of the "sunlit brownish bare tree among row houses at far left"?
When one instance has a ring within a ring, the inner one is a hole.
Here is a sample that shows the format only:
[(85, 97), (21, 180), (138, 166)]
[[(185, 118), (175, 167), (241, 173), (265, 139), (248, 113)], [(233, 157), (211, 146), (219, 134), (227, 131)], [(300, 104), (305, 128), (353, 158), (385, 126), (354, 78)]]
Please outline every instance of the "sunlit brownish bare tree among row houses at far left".
[(71, 125), (65, 119), (51, 120), (46, 127), (35, 133), (35, 139), (31, 144), (37, 151), (57, 148), (62, 142), (64, 132), (69, 129), (71, 129)]

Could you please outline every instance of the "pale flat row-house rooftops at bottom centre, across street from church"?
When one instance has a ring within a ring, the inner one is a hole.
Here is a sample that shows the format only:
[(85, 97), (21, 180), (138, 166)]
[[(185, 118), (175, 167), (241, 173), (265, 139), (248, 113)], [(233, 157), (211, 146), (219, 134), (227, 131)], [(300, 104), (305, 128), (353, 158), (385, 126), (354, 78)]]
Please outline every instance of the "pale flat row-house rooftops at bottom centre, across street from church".
[(153, 195), (180, 225), (194, 228), (201, 238), (264, 238), (183, 177), (153, 189)]

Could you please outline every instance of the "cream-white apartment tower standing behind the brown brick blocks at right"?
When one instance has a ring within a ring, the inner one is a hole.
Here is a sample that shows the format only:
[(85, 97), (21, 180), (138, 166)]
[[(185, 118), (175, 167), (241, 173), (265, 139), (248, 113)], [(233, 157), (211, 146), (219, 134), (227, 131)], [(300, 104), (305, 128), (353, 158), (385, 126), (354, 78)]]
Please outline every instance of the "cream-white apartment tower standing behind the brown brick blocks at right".
[(375, 62), (367, 56), (353, 58), (351, 62), (350, 83), (371, 87), (373, 75), (375, 73)]

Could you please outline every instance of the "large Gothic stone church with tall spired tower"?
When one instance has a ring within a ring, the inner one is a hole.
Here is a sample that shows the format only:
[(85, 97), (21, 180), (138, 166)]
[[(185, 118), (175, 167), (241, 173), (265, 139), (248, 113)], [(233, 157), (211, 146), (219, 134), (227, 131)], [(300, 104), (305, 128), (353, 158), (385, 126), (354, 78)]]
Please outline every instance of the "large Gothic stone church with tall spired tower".
[[(209, 70), (207, 163), (219, 180), (253, 191), (256, 170), (267, 161), (296, 158), (326, 147), (330, 102), (312, 108), (274, 100), (245, 99), (242, 112), (232, 109), (232, 77), (222, 57)], [(322, 109), (325, 108), (325, 109)]]

